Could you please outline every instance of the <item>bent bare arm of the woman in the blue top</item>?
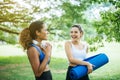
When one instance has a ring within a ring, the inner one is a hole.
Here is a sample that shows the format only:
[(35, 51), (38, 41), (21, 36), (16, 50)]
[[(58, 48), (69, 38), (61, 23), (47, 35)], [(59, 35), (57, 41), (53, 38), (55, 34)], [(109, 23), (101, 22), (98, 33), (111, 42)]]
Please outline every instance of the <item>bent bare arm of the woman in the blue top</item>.
[(28, 58), (31, 63), (31, 66), (32, 66), (35, 76), (40, 76), (43, 73), (43, 71), (45, 70), (48, 59), (49, 59), (49, 55), (48, 55), (49, 52), (51, 52), (51, 51), (49, 51), (49, 49), (46, 49), (45, 58), (44, 58), (43, 62), (40, 63), (38, 51), (34, 47), (31, 47), (28, 50)]

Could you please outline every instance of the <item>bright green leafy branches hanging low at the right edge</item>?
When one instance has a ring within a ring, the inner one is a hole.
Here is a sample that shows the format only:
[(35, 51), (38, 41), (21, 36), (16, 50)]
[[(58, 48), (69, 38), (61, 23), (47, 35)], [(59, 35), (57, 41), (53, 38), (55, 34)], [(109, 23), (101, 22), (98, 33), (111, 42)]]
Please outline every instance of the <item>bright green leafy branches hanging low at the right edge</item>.
[(97, 50), (97, 48), (104, 46), (103, 41), (120, 42), (120, 2), (118, 0), (99, 0), (91, 3), (104, 4), (109, 7), (109, 10), (100, 12), (101, 20), (92, 21), (92, 23), (90, 23), (96, 30), (95, 33), (93, 33), (94, 36), (89, 35), (91, 37), (87, 39), (87, 41), (91, 44), (90, 50), (94, 51)]

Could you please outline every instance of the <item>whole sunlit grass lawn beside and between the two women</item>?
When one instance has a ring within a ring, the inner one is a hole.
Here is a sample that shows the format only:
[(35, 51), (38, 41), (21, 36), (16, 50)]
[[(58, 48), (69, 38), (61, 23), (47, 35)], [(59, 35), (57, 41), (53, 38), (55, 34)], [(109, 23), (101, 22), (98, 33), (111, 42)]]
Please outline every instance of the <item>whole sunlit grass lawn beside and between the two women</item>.
[[(120, 44), (113, 42), (107, 43), (105, 47), (90, 53), (90, 55), (94, 55), (99, 52), (104, 52), (109, 57), (108, 64), (93, 71), (89, 75), (91, 80), (120, 80), (119, 49)], [(60, 53), (61, 52), (58, 51), (57, 54), (59, 55)], [(67, 65), (68, 62), (66, 58), (52, 57), (50, 68), (53, 80), (65, 80)], [(34, 80), (34, 75), (27, 56), (0, 56), (0, 80)]]

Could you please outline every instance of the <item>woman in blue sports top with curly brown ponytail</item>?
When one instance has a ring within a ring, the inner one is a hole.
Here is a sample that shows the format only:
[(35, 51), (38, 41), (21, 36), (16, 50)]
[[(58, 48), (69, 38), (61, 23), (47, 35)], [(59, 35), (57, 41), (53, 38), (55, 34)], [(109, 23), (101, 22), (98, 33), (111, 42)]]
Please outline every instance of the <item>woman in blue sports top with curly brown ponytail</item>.
[(42, 21), (35, 21), (20, 33), (20, 44), (27, 50), (27, 56), (33, 69), (36, 80), (52, 80), (49, 69), (52, 46), (49, 43), (42, 45), (47, 40), (47, 28)]

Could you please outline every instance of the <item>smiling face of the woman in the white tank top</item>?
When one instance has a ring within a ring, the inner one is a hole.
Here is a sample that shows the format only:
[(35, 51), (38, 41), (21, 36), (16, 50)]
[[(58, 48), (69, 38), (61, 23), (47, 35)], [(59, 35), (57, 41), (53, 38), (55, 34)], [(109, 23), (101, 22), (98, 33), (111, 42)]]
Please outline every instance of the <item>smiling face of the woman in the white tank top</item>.
[(70, 36), (73, 41), (78, 41), (80, 40), (82, 33), (77, 27), (72, 27), (70, 31)]

